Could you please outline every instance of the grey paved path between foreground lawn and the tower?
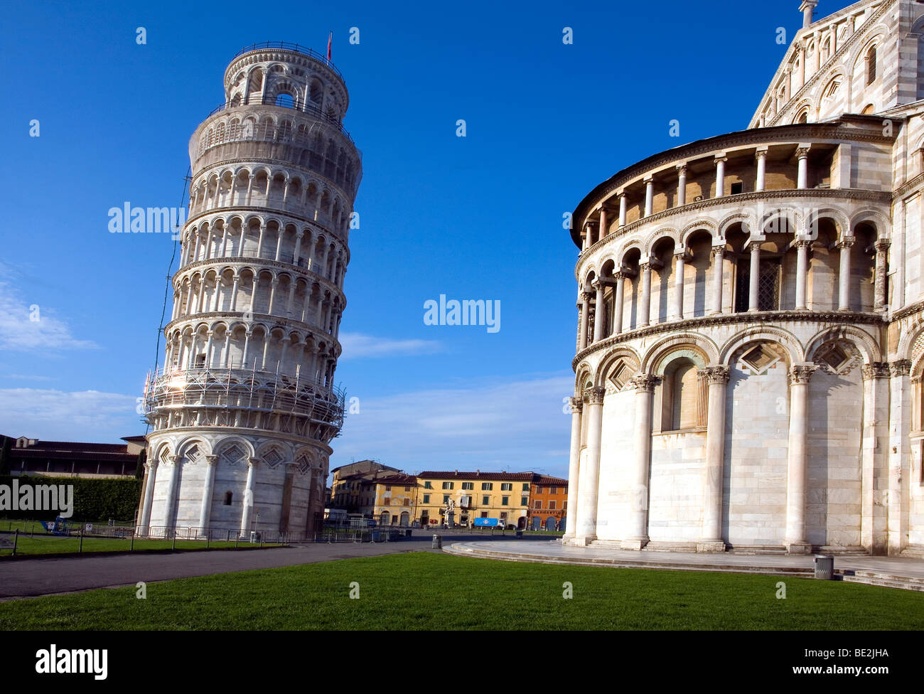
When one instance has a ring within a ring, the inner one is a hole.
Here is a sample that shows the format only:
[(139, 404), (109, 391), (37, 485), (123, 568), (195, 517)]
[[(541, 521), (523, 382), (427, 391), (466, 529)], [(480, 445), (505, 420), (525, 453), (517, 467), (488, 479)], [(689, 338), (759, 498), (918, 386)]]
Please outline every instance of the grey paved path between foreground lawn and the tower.
[[(461, 535), (457, 539), (472, 539)], [(454, 538), (456, 539), (456, 538)], [(208, 576), (276, 566), (298, 566), (334, 559), (379, 556), (431, 550), (432, 533), (405, 538), (399, 542), (319, 542), (296, 544), (265, 550), (212, 550), (173, 554), (102, 554), (60, 558), (16, 558), (0, 560), (0, 601), (62, 592), (135, 585), (145, 582)], [(541, 538), (546, 542), (545, 538)], [(486, 543), (516, 542), (512, 536), (498, 536)], [(519, 541), (523, 542), (523, 541)]]

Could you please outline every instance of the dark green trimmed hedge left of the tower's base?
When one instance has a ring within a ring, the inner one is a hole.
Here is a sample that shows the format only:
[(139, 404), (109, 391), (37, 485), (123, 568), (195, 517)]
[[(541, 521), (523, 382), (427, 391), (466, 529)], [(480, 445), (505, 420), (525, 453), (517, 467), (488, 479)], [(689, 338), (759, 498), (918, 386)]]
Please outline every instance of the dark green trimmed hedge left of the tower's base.
[[(43, 477), (23, 475), (12, 477), (0, 475), (0, 485), (6, 485), (12, 493), (13, 480), (18, 480), (19, 489), (36, 484), (73, 484), (74, 508), (71, 520), (98, 521), (115, 518), (132, 520), (138, 510), (141, 494), (140, 480), (103, 480), (83, 477)], [(35, 511), (0, 508), (0, 518), (28, 518), (31, 520), (54, 520), (58, 511)]]

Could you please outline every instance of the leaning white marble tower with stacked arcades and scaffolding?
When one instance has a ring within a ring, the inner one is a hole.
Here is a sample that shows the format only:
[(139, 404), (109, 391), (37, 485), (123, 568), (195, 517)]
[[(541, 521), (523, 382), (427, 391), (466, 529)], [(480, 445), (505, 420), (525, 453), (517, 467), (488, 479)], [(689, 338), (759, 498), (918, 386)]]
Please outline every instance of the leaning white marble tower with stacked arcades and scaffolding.
[(261, 43), (189, 140), (192, 179), (164, 367), (149, 379), (139, 530), (298, 537), (322, 518), (360, 153), (340, 72)]

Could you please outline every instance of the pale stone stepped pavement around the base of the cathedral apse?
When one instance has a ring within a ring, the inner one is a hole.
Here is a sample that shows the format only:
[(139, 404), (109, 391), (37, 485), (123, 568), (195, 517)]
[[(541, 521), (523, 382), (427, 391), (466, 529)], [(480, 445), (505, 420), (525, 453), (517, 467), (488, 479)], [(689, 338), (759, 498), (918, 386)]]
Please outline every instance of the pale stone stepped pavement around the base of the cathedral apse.
[[(561, 542), (453, 542), (444, 551), (505, 561), (622, 566), (693, 571), (805, 576), (814, 574), (811, 554), (697, 554), (620, 550), (611, 547), (565, 547)], [(834, 573), (851, 583), (924, 591), (924, 560), (900, 556), (835, 556)]]

